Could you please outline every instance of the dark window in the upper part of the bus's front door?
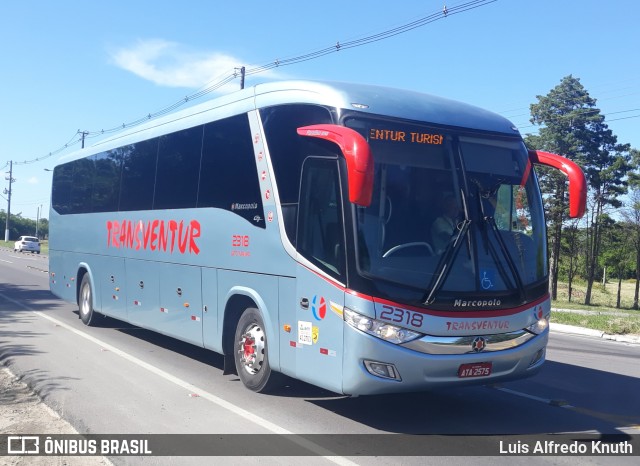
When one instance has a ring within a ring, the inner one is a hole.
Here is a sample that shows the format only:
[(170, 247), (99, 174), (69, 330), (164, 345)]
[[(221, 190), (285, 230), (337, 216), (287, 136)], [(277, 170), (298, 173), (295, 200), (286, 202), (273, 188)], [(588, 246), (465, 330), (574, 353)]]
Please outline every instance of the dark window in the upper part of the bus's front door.
[(340, 178), (335, 159), (308, 158), (302, 169), (298, 251), (335, 277), (345, 273)]

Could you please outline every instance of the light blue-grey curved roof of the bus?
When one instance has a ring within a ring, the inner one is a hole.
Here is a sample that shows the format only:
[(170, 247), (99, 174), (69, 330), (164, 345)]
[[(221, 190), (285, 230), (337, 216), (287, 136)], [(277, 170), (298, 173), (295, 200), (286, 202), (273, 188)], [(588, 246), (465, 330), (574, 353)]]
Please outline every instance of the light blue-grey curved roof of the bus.
[(149, 120), (106, 137), (86, 149), (65, 155), (59, 162), (68, 162), (256, 108), (292, 103), (327, 105), (436, 125), (519, 135), (517, 128), (500, 115), (430, 94), (341, 82), (280, 81), (258, 84)]

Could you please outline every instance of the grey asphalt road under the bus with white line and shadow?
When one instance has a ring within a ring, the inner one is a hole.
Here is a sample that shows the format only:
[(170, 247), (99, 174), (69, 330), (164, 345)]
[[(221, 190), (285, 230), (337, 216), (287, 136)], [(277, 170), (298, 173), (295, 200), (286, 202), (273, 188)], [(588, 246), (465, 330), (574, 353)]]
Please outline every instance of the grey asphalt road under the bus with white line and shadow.
[[(482, 442), (495, 456), (496, 439), (509, 434), (640, 434), (640, 345), (552, 332), (543, 370), (518, 382), (346, 398), (289, 380), (275, 394), (260, 395), (236, 376), (222, 375), (222, 358), (209, 351), (109, 318), (98, 327), (84, 326), (74, 305), (48, 291), (47, 269), (46, 256), (0, 249), (0, 365), (23, 377), (81, 433), (342, 434), (345, 442), (371, 438), (346, 434), (432, 434), (442, 442), (455, 440), (461, 455), (468, 453), (460, 439), (474, 436), (469, 442)], [(345, 458), (322, 448), (305, 464), (424, 464), (415, 456)], [(533, 459), (584, 463), (570, 456)], [(634, 459), (616, 457), (615, 463), (635, 464)], [(139, 464), (142, 458), (112, 460)], [(611, 464), (611, 458), (591, 457), (588, 463)]]

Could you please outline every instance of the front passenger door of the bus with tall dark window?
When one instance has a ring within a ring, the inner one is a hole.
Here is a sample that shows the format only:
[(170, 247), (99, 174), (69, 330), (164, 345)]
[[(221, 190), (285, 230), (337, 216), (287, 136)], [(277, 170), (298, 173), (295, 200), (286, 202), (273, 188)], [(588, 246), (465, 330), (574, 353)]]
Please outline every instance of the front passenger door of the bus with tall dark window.
[[(344, 221), (338, 161), (309, 157), (302, 167), (296, 248), (295, 374), (342, 391)], [(295, 339), (294, 339), (295, 338)]]

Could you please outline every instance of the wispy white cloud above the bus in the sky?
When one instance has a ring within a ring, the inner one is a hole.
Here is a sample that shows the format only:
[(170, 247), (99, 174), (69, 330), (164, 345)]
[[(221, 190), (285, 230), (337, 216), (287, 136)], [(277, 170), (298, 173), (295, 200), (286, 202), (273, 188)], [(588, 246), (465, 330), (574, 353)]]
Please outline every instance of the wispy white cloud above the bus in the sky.
[(111, 58), (122, 69), (169, 87), (199, 88), (243, 65), (241, 59), (231, 55), (195, 52), (163, 39), (140, 40), (131, 47), (112, 51)]

